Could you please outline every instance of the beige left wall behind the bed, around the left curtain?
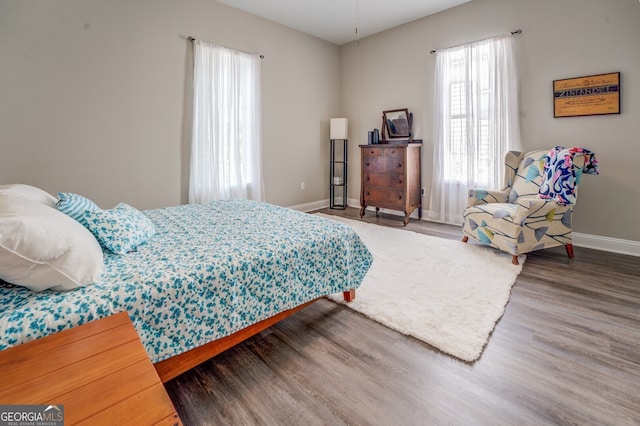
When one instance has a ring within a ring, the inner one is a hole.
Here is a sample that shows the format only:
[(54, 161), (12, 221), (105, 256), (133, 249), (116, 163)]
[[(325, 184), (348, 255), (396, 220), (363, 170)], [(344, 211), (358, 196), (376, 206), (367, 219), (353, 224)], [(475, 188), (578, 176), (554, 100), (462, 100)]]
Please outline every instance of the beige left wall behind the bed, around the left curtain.
[(265, 55), (267, 201), (326, 199), (339, 47), (214, 0), (0, 0), (0, 183), (186, 202), (190, 35)]

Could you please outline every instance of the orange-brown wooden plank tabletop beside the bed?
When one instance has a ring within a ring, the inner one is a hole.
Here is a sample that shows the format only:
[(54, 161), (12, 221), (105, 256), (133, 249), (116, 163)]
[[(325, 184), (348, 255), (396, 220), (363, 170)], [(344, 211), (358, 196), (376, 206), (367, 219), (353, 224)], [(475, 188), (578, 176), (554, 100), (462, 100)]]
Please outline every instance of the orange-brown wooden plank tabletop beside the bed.
[(54, 404), (64, 424), (180, 425), (126, 312), (0, 351), (2, 404)]

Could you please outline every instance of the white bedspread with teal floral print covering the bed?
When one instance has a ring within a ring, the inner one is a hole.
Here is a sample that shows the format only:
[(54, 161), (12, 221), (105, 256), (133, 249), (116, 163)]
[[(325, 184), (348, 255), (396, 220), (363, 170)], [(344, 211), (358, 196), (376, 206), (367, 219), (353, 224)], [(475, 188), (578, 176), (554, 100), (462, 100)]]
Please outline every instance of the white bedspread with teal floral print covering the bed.
[(247, 200), (144, 212), (155, 235), (105, 253), (99, 282), (68, 292), (0, 287), (0, 350), (127, 311), (153, 362), (331, 293), (372, 256), (346, 225)]

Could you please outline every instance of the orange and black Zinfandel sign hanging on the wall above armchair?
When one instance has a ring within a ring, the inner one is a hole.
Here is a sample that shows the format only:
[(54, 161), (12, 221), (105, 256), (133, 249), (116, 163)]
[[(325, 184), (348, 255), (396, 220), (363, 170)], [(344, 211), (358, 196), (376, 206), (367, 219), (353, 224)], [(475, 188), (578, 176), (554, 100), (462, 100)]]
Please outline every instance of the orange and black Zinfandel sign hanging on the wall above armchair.
[(553, 81), (553, 116), (620, 114), (620, 73)]

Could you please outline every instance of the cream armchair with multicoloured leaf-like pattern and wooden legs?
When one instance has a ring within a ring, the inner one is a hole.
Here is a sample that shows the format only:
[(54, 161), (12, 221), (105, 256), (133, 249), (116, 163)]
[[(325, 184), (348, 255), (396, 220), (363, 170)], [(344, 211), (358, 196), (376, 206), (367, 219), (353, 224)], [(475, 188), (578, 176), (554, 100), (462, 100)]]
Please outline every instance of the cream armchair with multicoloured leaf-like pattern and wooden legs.
[[(548, 164), (550, 158), (549, 150), (508, 152), (505, 156), (504, 189), (469, 191), (462, 225), (462, 241), (467, 242), (471, 237), (510, 253), (514, 265), (518, 264), (520, 254), (561, 245), (565, 246), (567, 255), (572, 258), (571, 214), (577, 196), (577, 184), (585, 168), (585, 159), (591, 161), (589, 151), (589, 154), (584, 154), (584, 150), (572, 150), (571, 161), (566, 161), (568, 166), (562, 163), (566, 167), (563, 173), (573, 178), (573, 186), (569, 192), (565, 191), (568, 197), (564, 198), (554, 193), (549, 195), (549, 185), (552, 189), (560, 185), (556, 182), (560, 172), (545, 170), (545, 164)], [(576, 153), (575, 150), (579, 152)], [(553, 158), (553, 150), (551, 154)], [(593, 166), (588, 172), (595, 174), (598, 172), (595, 157)], [(566, 185), (563, 185), (565, 188)]]

